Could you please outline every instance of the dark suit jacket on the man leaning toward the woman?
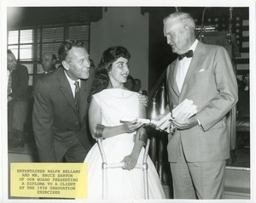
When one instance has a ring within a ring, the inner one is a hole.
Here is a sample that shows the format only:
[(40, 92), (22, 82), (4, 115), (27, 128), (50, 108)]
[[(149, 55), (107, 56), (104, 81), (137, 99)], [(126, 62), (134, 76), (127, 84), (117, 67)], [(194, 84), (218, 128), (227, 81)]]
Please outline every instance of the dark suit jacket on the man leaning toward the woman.
[(38, 78), (34, 87), (32, 126), (40, 161), (61, 161), (67, 149), (72, 147), (71, 143), (75, 137), (79, 138), (85, 149), (90, 149), (87, 98), (93, 75), (94, 69), (90, 68), (89, 79), (81, 80), (80, 93), (83, 105), (80, 117), (62, 67)]

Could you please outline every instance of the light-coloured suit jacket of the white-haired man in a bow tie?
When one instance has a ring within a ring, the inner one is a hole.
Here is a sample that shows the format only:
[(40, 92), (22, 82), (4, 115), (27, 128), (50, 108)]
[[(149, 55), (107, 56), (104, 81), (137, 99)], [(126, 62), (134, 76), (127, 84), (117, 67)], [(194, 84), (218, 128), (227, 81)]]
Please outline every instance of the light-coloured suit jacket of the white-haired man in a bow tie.
[(226, 115), (236, 104), (236, 76), (228, 52), (220, 46), (198, 42), (181, 93), (177, 89), (176, 59), (167, 69), (170, 110), (184, 99), (197, 106), (201, 127), (177, 130), (169, 136), (169, 161), (176, 162), (183, 146), (187, 161), (221, 161), (230, 157), (230, 136)]

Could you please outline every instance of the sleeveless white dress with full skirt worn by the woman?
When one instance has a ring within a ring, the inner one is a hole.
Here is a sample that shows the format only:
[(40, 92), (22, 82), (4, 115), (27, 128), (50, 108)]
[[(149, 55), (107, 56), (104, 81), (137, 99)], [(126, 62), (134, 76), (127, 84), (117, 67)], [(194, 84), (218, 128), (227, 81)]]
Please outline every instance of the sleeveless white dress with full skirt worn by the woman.
[[(139, 102), (137, 93), (124, 89), (105, 89), (93, 95), (102, 111), (102, 125), (121, 125), (119, 120), (137, 118)], [(102, 145), (108, 163), (120, 162), (133, 148), (133, 134), (123, 133), (103, 140)], [(144, 148), (138, 162), (143, 161)], [(102, 199), (102, 156), (95, 144), (86, 156), (88, 166), (88, 199)], [(158, 173), (148, 156), (148, 195), (149, 199), (165, 198)], [(108, 169), (108, 199), (144, 199), (143, 170), (131, 171), (122, 168)]]

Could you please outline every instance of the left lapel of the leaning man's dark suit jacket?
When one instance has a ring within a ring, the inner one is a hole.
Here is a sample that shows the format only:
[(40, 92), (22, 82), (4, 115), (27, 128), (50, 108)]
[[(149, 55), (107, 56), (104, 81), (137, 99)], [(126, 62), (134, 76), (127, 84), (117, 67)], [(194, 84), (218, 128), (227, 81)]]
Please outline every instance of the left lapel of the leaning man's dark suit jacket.
[(72, 93), (70, 84), (67, 81), (67, 76), (65, 76), (63, 69), (60, 70), (60, 74), (58, 76), (60, 77), (59, 80), (61, 82), (61, 87), (60, 87), (61, 92), (63, 93), (68, 103), (73, 108), (73, 111), (75, 112), (75, 114), (79, 116), (79, 112), (77, 111), (76, 106), (74, 104), (74, 98), (73, 98), (73, 93)]

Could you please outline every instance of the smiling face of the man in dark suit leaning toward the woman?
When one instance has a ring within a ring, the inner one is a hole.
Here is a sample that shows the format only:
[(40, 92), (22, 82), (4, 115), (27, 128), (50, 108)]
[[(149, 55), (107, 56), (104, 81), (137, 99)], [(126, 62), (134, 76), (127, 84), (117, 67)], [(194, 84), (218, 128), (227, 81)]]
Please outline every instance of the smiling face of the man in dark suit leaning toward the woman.
[(85, 48), (71, 48), (67, 59), (62, 61), (62, 65), (67, 70), (67, 76), (74, 81), (87, 79), (90, 76), (90, 59)]

